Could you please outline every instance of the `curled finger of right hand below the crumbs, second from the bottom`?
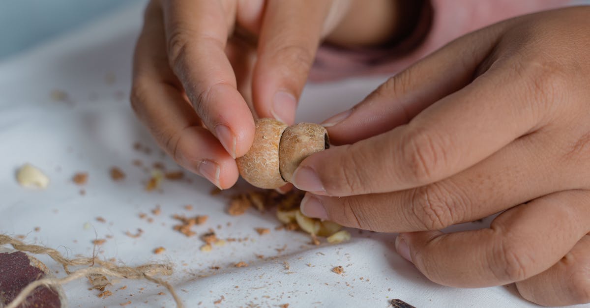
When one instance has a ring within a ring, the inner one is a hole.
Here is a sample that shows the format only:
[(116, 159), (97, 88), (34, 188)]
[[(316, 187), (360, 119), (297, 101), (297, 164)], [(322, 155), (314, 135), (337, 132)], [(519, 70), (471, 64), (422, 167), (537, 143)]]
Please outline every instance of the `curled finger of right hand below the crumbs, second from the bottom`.
[(547, 270), (588, 233), (588, 191), (543, 196), (500, 214), (490, 228), (402, 233), (396, 249), (435, 283), (486, 287)]

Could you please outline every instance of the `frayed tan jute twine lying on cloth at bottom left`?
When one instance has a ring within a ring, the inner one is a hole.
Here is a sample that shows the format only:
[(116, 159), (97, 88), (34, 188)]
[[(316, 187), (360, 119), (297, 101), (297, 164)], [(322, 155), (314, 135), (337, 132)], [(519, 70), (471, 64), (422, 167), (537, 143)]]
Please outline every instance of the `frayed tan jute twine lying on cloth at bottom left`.
[[(40, 280), (35, 280), (32, 283), (28, 284), (27, 287), (21, 290), (17, 297), (15, 297), (12, 302), (8, 304), (5, 308), (16, 308), (19, 304), (27, 299), (32, 291), (34, 291), (39, 286), (60, 286), (62, 284), (66, 284), (70, 281), (92, 276), (92, 275), (104, 275), (104, 276), (112, 276), (112, 277), (119, 277), (119, 278), (127, 278), (127, 279), (145, 279), (152, 281), (153, 283), (160, 284), (165, 286), (166, 289), (172, 295), (174, 301), (176, 302), (176, 307), (184, 307), (182, 304), (181, 299), (176, 294), (174, 288), (168, 282), (154, 277), (155, 275), (166, 275), (169, 276), (172, 274), (172, 267), (166, 264), (146, 264), (143, 266), (137, 267), (126, 267), (126, 266), (116, 266), (116, 264), (103, 261), (95, 258), (74, 258), (68, 259), (65, 258), (59, 251), (48, 248), (40, 245), (27, 245), (16, 238), (9, 237), (8, 235), (0, 234), (0, 245), (10, 244), (14, 247), (15, 250), (24, 251), (27, 253), (32, 254), (47, 254), (57, 263), (60, 263), (67, 273), (68, 276), (63, 278), (44, 278)], [(93, 264), (98, 264), (100, 267), (89, 267), (83, 268), (81, 270), (76, 270), (70, 272), (68, 266), (93, 266)]]

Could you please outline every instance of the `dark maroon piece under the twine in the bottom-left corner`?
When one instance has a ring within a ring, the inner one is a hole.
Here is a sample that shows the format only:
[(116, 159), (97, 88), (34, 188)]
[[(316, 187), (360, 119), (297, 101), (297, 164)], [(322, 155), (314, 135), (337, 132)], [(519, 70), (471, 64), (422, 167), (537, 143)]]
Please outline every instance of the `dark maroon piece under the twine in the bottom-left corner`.
[[(37, 261), (39, 266), (41, 262)], [(32, 266), (28, 255), (21, 251), (0, 253), (0, 306), (10, 303), (32, 281), (45, 278), (45, 272)], [(60, 295), (49, 287), (38, 287), (27, 297), (27, 304), (19, 308), (58, 308), (61, 307)]]

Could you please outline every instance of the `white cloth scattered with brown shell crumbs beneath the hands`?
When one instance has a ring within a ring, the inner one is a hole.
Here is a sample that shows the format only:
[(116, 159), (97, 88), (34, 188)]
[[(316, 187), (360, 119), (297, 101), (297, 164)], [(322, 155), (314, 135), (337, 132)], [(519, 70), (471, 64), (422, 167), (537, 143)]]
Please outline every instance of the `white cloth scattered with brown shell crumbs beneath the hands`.
[[(141, 182), (148, 175), (132, 165), (133, 159), (146, 164), (163, 161), (169, 169), (178, 167), (155, 150), (155, 143), (127, 103), (141, 15), (142, 6), (123, 9), (0, 63), (1, 233), (27, 235), (25, 241), (57, 247), (69, 257), (89, 256), (91, 240), (113, 235), (101, 247), (100, 257), (114, 257), (129, 266), (171, 262), (175, 273), (166, 279), (188, 307), (198, 303), (199, 307), (214, 307), (221, 296), (225, 299), (217, 306), (222, 307), (284, 303), (290, 307), (387, 307), (391, 299), (417, 307), (535, 306), (520, 298), (512, 286), (453, 289), (431, 283), (395, 253), (395, 235), (352, 230), (349, 243), (314, 247), (304, 234), (274, 231), (277, 221), (273, 214), (250, 210), (231, 217), (225, 213), (226, 199), (209, 195), (212, 185), (196, 176), (191, 176), (192, 184), (164, 182), (161, 193), (144, 191)], [(105, 82), (111, 73), (116, 76), (114, 84)], [(383, 80), (310, 85), (301, 99), (298, 120), (319, 122), (345, 110)], [(54, 89), (66, 91), (71, 104), (52, 100)], [(149, 145), (154, 149), (152, 154), (133, 150), (134, 142)], [(15, 171), (27, 162), (50, 176), (46, 190), (17, 184)], [(120, 184), (113, 182), (110, 166), (122, 168), (127, 178)], [(84, 196), (71, 182), (78, 171), (89, 172)], [(159, 216), (150, 213), (156, 204), (162, 209)], [(194, 210), (183, 209), (186, 204)], [(140, 219), (140, 212), (155, 221), (150, 224)], [(194, 228), (199, 234), (220, 224), (218, 237), (249, 236), (251, 241), (228, 243), (202, 253), (198, 237), (187, 238), (172, 230), (173, 214), (209, 215), (207, 224)], [(107, 223), (97, 222), (98, 216)], [(91, 228), (83, 227), (87, 222)], [(35, 227), (40, 231), (33, 231)], [(254, 227), (271, 228), (271, 233), (260, 236)], [(477, 227), (481, 225), (460, 228)], [(137, 228), (145, 231), (141, 237), (124, 235)], [(286, 250), (278, 253), (276, 248), (284, 243)], [(166, 248), (165, 253), (153, 254), (159, 246)], [(278, 257), (259, 260), (255, 253)], [(58, 271), (57, 276), (64, 275), (47, 257), (41, 260)], [(233, 267), (238, 261), (250, 266)], [(290, 264), (289, 270), (284, 269), (283, 261)], [(221, 268), (211, 270), (211, 266)], [(335, 266), (345, 267), (345, 273), (332, 273)], [(127, 289), (114, 291), (123, 285)], [(119, 307), (127, 300), (132, 301), (127, 307), (173, 306), (170, 296), (158, 295), (165, 291), (162, 287), (146, 281), (122, 280), (111, 288), (114, 295), (107, 299), (98, 298), (97, 292), (88, 288), (86, 281), (65, 286), (70, 306)]]

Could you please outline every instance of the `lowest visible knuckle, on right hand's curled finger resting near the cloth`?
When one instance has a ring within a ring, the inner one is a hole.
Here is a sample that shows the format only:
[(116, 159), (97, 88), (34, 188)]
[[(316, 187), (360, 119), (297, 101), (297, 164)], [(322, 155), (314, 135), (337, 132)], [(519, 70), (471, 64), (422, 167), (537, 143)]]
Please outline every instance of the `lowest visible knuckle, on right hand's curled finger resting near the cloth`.
[(506, 237), (491, 254), (490, 270), (501, 283), (513, 283), (530, 277), (534, 258), (530, 257), (522, 241), (507, 240)]

